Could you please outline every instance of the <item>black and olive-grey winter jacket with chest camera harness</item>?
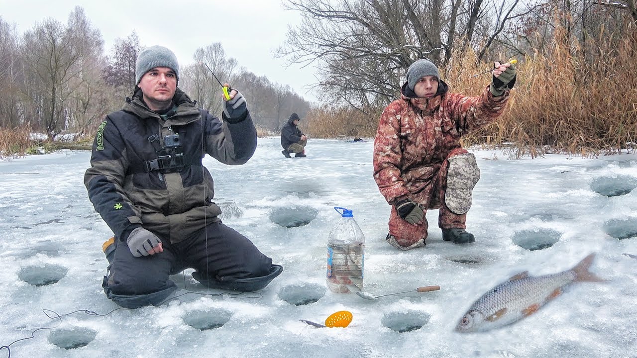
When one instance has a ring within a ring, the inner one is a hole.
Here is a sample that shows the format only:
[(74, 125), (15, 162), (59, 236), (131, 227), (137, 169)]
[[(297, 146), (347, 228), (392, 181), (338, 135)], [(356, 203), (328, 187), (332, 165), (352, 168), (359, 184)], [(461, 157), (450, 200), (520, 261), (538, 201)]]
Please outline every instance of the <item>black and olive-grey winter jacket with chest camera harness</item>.
[[(84, 184), (116, 238), (126, 240), (132, 229), (144, 227), (175, 243), (219, 220), (204, 155), (243, 164), (254, 154), (257, 134), (248, 111), (233, 120), (224, 114), (222, 122), (196, 108), (180, 89), (165, 121), (140, 97), (138, 89), (130, 103), (99, 126)], [(175, 134), (183, 148), (183, 166), (173, 173), (157, 170), (159, 155), (166, 154), (164, 138)]]

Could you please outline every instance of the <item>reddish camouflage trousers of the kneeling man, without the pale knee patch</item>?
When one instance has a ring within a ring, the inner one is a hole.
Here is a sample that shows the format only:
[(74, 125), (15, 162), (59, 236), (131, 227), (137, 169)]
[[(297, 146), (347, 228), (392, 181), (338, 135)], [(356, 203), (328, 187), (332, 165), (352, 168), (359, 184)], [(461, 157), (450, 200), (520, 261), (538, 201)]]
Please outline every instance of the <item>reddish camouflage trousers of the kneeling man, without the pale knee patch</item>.
[[(434, 180), (427, 184), (423, 190), (424, 197), (427, 197), (427, 202), (421, 202), (422, 210), (427, 213), (427, 209), (440, 209), (438, 214), (438, 227), (441, 229), (452, 229), (454, 227), (459, 229), (466, 229), (466, 212), (462, 215), (458, 215), (447, 208), (445, 204), (445, 191), (447, 190), (447, 171), (449, 168), (448, 159), (459, 154), (468, 153), (463, 148), (457, 148), (450, 152), (447, 159), (443, 162)], [(421, 194), (421, 195), (422, 195)], [(429, 223), (427, 218), (422, 220), (420, 225), (412, 225), (403, 220), (399, 215), (396, 208), (392, 206), (391, 213), (389, 215), (389, 234), (394, 236), (396, 242), (404, 248), (420, 247), (424, 245), (424, 240), (427, 238), (427, 229)], [(419, 243), (420, 245), (415, 245)]]

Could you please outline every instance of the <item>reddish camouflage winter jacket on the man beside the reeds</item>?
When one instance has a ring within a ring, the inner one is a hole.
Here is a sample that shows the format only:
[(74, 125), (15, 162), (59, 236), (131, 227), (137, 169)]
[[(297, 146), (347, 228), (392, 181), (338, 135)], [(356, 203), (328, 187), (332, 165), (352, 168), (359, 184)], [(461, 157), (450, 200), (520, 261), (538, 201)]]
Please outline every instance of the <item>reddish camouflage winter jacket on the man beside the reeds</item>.
[[(477, 97), (447, 93), (440, 81), (436, 96), (416, 98), (406, 83), (401, 99), (385, 108), (374, 141), (374, 179), (387, 203), (418, 197), (434, 179), (451, 150), (460, 148), (462, 135), (495, 120), (508, 101), (509, 92), (494, 97), (489, 87)], [(411, 96), (409, 96), (411, 94)]]

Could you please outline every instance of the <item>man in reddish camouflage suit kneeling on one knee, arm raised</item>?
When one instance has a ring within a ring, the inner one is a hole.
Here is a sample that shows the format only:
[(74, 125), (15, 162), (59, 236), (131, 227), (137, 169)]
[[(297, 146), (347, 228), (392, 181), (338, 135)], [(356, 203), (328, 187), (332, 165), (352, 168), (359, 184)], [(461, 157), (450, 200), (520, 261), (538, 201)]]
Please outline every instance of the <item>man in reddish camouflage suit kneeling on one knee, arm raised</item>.
[(448, 93), (438, 68), (426, 59), (412, 64), (401, 99), (387, 106), (374, 141), (374, 179), (392, 205), (390, 245), (422, 247), (427, 209), (440, 208), (443, 240), (475, 242), (465, 231), (471, 192), (480, 178), (475, 157), (460, 145), (469, 131), (494, 121), (505, 109), (515, 67), (496, 62), (492, 83), (477, 97)]

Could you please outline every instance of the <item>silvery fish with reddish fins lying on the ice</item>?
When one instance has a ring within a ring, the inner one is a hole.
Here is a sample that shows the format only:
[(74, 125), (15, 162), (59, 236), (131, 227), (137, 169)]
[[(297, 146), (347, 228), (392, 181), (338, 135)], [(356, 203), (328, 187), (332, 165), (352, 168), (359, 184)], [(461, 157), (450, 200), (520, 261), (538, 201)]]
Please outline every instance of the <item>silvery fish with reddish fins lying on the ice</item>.
[(483, 294), (462, 316), (456, 331), (476, 332), (506, 326), (532, 315), (562, 294), (573, 282), (603, 282), (589, 271), (595, 254), (575, 267), (552, 275), (529, 276), (523, 271)]

